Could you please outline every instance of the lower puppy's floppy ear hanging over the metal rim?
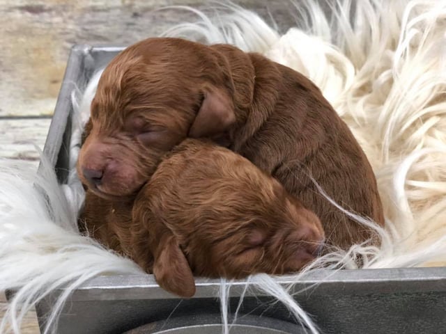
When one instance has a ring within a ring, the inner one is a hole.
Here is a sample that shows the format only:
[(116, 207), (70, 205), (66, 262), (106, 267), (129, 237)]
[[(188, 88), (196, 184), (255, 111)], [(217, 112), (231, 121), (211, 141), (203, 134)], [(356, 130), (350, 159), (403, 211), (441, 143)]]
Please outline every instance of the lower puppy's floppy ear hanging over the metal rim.
[(178, 296), (194, 296), (194, 276), (178, 242), (173, 236), (163, 239), (164, 241), (157, 246), (159, 251), (153, 264), (153, 274), (157, 283)]

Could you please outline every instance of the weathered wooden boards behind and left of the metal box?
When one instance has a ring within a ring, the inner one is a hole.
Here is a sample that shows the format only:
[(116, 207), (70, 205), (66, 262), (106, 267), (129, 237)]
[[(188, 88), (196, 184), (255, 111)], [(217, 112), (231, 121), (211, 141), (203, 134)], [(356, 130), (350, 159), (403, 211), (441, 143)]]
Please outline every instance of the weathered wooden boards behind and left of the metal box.
[[(289, 1), (234, 2), (267, 20), (272, 13), (280, 26), (295, 20)], [(209, 6), (201, 0), (0, 0), (0, 158), (38, 165), (36, 147), (43, 149), (73, 44), (130, 45), (195, 19), (186, 10), (154, 11), (171, 5)], [(22, 333), (39, 333), (33, 312)]]

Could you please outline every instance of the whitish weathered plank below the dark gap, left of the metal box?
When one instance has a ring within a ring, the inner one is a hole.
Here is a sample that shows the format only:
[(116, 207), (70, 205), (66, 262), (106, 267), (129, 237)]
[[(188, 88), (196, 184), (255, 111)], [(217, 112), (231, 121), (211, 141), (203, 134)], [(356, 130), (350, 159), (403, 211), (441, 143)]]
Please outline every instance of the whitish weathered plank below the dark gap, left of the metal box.
[(49, 129), (50, 118), (1, 119), (0, 157), (33, 161), (37, 165)]

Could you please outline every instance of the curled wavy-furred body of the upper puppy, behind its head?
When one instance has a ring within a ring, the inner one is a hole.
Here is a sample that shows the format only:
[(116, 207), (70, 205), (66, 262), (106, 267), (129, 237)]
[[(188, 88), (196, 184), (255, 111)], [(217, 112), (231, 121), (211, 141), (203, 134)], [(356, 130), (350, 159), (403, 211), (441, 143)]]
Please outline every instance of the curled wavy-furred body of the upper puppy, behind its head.
[[(330, 243), (348, 248), (374, 238), (370, 230), (334, 208), (315, 184), (345, 209), (383, 225), (373, 170), (350, 129), (302, 74), (263, 56), (249, 54), (249, 58), (256, 70), (254, 102), (247, 110), (246, 125), (233, 130), (231, 149), (276, 177), (312, 209)], [(275, 95), (265, 101), (255, 92), (268, 86), (275, 88)], [(265, 121), (259, 124), (259, 119)]]

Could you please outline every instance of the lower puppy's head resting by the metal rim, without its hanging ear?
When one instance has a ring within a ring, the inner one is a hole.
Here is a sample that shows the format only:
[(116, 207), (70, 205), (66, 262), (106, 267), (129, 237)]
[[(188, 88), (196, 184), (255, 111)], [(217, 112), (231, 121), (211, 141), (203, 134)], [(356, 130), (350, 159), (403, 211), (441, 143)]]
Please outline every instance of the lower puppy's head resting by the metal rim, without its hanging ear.
[[(175, 234), (194, 274), (291, 273), (321, 253), (321, 221), (282, 184), (225, 148), (190, 140), (179, 146), (186, 145), (163, 161), (139, 198)], [(178, 273), (177, 262), (169, 263), (164, 272)]]

